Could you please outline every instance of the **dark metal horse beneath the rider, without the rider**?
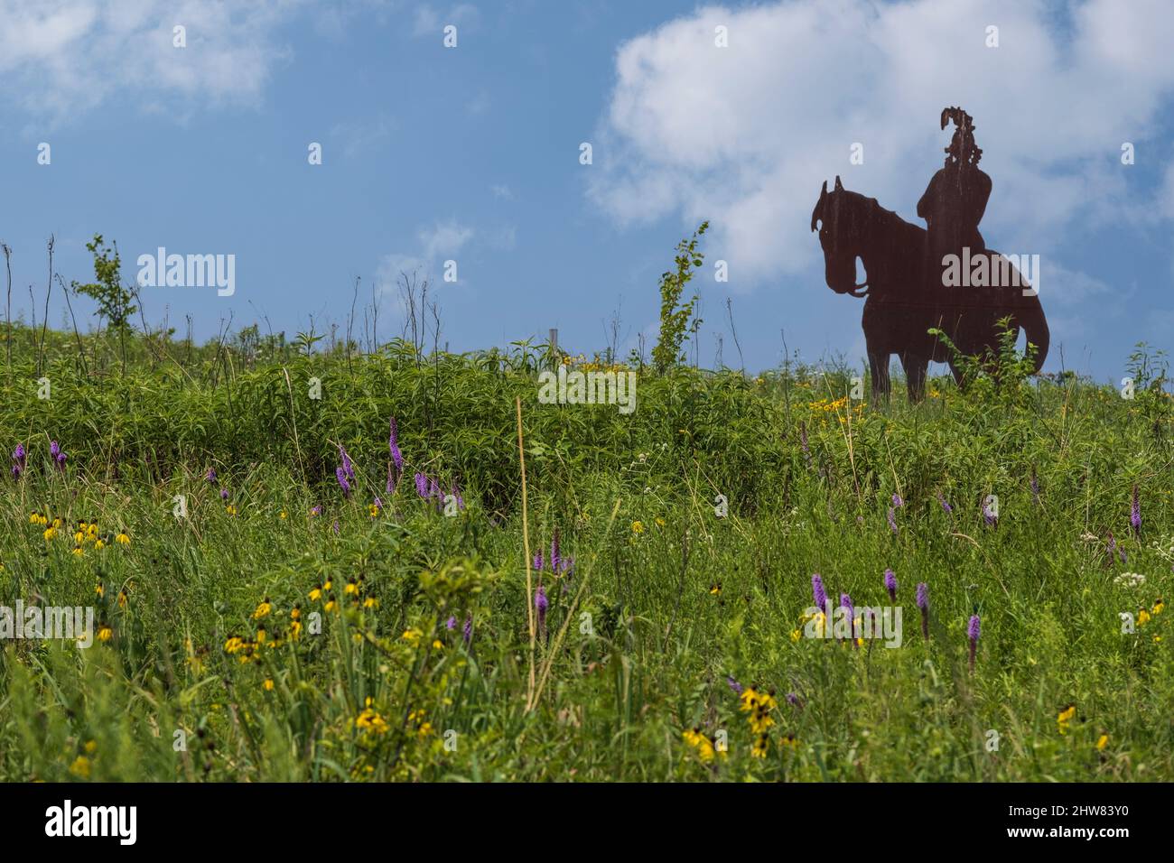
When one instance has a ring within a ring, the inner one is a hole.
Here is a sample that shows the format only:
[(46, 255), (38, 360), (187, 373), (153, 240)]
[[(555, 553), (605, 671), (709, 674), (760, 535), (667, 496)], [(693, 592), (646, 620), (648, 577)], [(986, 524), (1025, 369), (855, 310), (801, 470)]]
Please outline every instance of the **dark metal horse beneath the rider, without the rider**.
[[(949, 363), (954, 379), (962, 372), (945, 345), (929, 333), (945, 332), (963, 355), (997, 350), (998, 321), (1011, 318), (1016, 338), (1023, 328), (1038, 349), (1035, 371), (1047, 357), (1048, 330), (1039, 296), (1019, 270), (999, 252), (983, 250), (987, 271), (1001, 272), (997, 286), (947, 286), (940, 262), (930, 258), (924, 228), (910, 224), (886, 210), (876, 198), (848, 191), (836, 177), (829, 193), (824, 181), (819, 201), (811, 213), (811, 230), (819, 231), (824, 278), (836, 294), (864, 297), (864, 339), (872, 375), (872, 397), (889, 398), (889, 358), (896, 353), (905, 370), (909, 400), (925, 396), (925, 372), (930, 362)], [(856, 258), (861, 258), (866, 282), (856, 284)]]

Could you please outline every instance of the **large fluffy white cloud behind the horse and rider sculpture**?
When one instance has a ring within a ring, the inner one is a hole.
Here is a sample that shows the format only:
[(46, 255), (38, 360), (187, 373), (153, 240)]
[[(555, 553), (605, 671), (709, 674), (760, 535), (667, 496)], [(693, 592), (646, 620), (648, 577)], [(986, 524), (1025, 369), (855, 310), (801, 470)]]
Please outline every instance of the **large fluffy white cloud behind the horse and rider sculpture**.
[(1066, 228), (1154, 203), (1129, 200), (1119, 156), (1161, 130), (1172, 31), (1174, 7), (1156, 0), (701, 8), (620, 46), (588, 195), (621, 223), (713, 220), (709, 247), (742, 286), (810, 271), (822, 180), (915, 220), (949, 143), (940, 110), (960, 104), (994, 181), (984, 236), (1052, 255)]

